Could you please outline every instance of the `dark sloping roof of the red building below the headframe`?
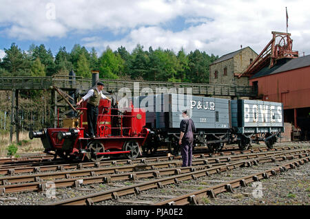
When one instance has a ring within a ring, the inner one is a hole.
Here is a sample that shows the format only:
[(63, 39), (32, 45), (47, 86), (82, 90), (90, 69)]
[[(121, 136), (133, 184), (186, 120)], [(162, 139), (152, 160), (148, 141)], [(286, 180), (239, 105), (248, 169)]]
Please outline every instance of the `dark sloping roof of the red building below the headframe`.
[(273, 73), (280, 73), (283, 71), (291, 71), (293, 69), (299, 69), (302, 67), (308, 67), (310, 66), (310, 55), (308, 56), (302, 56), (299, 58), (282, 58), (281, 60), (277, 61), (277, 64), (274, 65), (271, 69), (269, 67), (264, 67), (258, 73), (256, 73), (251, 78), (259, 78), (262, 76), (268, 76)]

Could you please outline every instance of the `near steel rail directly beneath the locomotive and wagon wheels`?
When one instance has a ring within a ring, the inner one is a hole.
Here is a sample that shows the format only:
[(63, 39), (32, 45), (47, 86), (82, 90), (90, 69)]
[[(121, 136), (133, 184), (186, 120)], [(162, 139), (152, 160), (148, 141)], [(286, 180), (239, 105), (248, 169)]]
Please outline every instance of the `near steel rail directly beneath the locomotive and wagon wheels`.
[[(282, 150), (292, 150), (292, 148), (298, 147), (287, 147), (282, 148)], [(263, 152), (263, 151), (278, 151), (278, 148), (273, 148), (272, 150), (267, 150), (267, 148), (258, 148), (255, 151)], [(254, 150), (246, 150), (246, 151), (236, 151), (229, 152), (228, 154), (247, 154), (254, 153)], [(217, 154), (194, 154), (194, 157), (214, 157), (214, 156), (224, 156), (225, 153), (220, 152)], [(139, 159), (125, 159), (125, 160), (114, 160), (114, 161), (101, 161), (101, 162), (88, 162), (88, 163), (67, 163), (67, 164), (59, 164), (59, 165), (35, 165), (35, 166), (25, 166), (25, 167), (10, 167), (10, 168), (0, 168), (0, 175), (14, 175), (17, 173), (31, 173), (31, 172), (43, 172), (43, 171), (56, 171), (56, 170), (70, 170), (70, 169), (83, 169), (83, 168), (99, 168), (100, 166), (107, 165), (125, 165), (132, 163), (148, 163), (148, 162), (159, 162), (159, 161), (172, 161), (173, 159), (180, 159), (179, 156), (171, 156), (171, 157), (151, 157), (151, 158), (139, 158)]]

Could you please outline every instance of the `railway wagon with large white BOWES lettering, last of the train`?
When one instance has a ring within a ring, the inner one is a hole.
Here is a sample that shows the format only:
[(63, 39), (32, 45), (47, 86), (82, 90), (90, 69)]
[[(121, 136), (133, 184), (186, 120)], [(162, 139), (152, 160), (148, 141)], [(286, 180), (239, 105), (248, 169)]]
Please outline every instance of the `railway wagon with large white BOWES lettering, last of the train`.
[(273, 148), (284, 132), (283, 105), (260, 100), (231, 100), (231, 126), (241, 150), (259, 141)]

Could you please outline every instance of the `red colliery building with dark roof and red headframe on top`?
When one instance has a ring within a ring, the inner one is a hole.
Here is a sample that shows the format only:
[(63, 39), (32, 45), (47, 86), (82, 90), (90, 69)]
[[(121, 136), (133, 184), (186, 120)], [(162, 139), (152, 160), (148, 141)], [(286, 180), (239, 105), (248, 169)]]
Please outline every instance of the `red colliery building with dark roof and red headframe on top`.
[(301, 129), (300, 139), (310, 139), (310, 56), (298, 57), (298, 51), (292, 51), (291, 34), (272, 34), (243, 75), (249, 76), (260, 99), (282, 102), (285, 122)]

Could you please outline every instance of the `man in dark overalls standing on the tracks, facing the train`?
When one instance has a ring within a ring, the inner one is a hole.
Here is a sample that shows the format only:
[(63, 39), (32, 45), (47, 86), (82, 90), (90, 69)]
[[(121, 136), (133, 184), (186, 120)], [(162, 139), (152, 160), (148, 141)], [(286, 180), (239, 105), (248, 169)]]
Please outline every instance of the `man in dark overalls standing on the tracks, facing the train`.
[(189, 167), (192, 165), (193, 157), (193, 142), (196, 128), (194, 122), (188, 117), (187, 111), (182, 112), (183, 120), (180, 122), (180, 140), (178, 143), (181, 147), (181, 154), (183, 159), (182, 167)]

